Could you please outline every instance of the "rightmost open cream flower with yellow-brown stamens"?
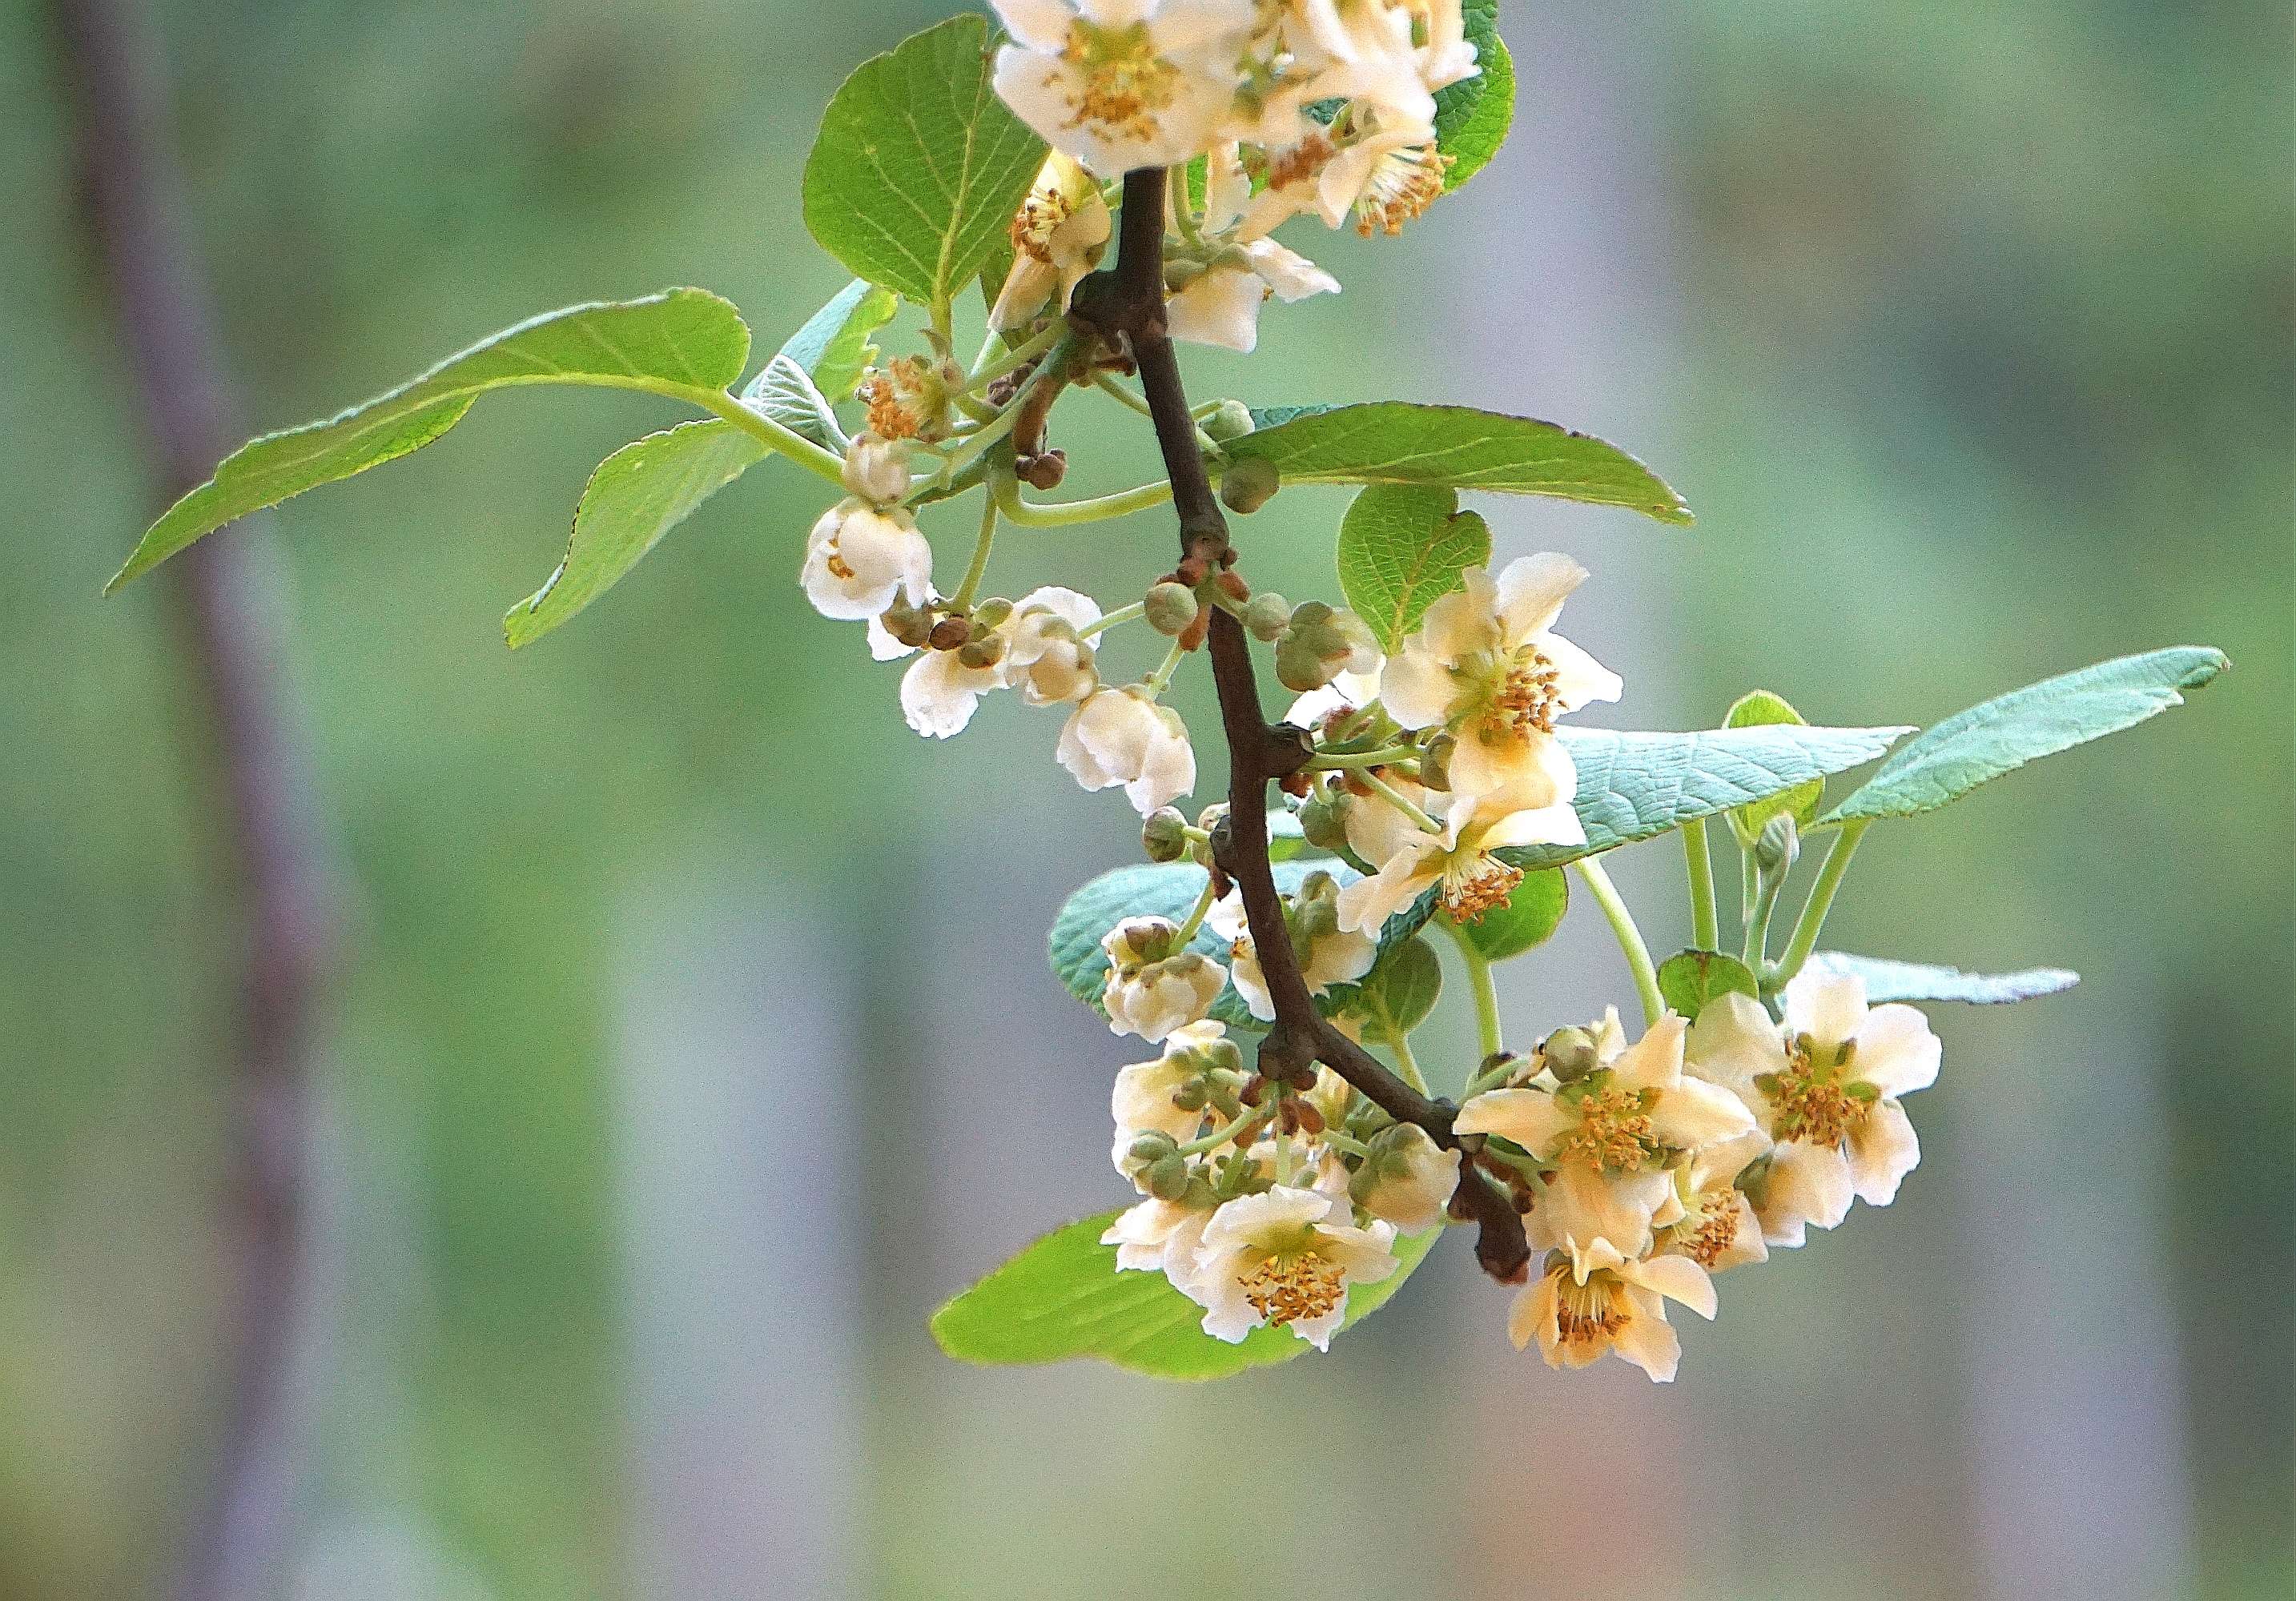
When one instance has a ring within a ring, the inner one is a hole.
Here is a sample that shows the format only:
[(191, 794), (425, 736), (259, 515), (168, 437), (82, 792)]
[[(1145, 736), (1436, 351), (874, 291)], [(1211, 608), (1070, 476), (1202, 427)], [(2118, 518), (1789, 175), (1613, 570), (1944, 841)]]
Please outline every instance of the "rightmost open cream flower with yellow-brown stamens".
[(1745, 995), (1699, 1012), (1690, 1071), (1731, 1090), (1770, 1135), (1768, 1172), (1747, 1186), (1763, 1239), (1800, 1245), (1851, 1200), (1887, 1206), (1922, 1161), (1899, 1096), (1938, 1080), (1942, 1046), (1906, 1005), (1867, 1007), (1864, 979), (1802, 973), (1786, 984), (1786, 1021)]

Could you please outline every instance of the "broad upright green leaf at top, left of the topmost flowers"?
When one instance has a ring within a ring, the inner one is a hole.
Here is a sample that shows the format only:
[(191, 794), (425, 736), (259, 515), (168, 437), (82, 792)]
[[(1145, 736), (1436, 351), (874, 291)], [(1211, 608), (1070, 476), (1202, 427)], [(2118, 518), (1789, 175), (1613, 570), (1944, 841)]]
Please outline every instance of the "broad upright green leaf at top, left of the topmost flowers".
[(953, 16), (861, 64), (806, 158), (806, 227), (856, 278), (948, 305), (1006, 239), (1045, 142), (990, 87), (987, 23)]

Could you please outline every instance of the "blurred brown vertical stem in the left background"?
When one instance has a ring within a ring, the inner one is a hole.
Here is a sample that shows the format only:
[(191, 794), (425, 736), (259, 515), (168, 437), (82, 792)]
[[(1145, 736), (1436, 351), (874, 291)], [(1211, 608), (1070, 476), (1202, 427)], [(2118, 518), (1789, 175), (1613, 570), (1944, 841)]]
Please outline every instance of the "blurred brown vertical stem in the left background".
[[(117, 319), (165, 500), (241, 438), (165, 135), (158, 48), (140, 0), (51, 0), (69, 87), (92, 264)], [(204, 711), (207, 812), (230, 872), (241, 993), (232, 1064), (230, 1392), (214, 1482), (188, 1530), (181, 1601), (276, 1594), (289, 1530), (289, 1372), (317, 1002), (338, 890), (312, 764), (280, 677), (278, 567), (266, 530), (186, 550), (168, 589), (177, 651)], [(94, 578), (90, 580), (94, 585)], [(94, 589), (90, 589), (94, 594)]]

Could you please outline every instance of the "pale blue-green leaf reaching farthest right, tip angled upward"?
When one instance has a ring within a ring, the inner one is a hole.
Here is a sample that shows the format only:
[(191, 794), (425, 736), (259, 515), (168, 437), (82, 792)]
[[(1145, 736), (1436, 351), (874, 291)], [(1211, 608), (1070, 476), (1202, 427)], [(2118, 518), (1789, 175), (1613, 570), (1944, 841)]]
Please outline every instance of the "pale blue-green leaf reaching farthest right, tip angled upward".
[(2197, 690), (2227, 665), (2223, 651), (2183, 645), (2027, 684), (1926, 729), (1823, 821), (1933, 812), (2037, 757), (2181, 706), (2177, 690)]

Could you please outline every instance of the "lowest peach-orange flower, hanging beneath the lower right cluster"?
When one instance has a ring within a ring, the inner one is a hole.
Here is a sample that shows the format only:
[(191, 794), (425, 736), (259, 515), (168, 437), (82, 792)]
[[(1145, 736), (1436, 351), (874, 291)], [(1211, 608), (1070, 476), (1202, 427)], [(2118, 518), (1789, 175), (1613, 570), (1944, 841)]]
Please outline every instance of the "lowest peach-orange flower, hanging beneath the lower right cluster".
[(1690, 1257), (1630, 1262), (1607, 1241), (1548, 1255), (1541, 1275), (1515, 1296), (1506, 1335), (1515, 1349), (1538, 1340), (1548, 1367), (1587, 1367), (1616, 1351), (1655, 1383), (1669, 1383), (1683, 1342), (1667, 1326), (1667, 1301), (1715, 1314), (1715, 1287)]

